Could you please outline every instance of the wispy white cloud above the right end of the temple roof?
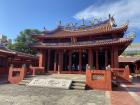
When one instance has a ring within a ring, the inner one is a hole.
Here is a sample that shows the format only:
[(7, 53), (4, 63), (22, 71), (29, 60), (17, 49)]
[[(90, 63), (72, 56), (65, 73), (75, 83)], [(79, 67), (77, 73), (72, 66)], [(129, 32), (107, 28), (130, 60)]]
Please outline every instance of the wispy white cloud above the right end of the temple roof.
[(92, 17), (108, 18), (109, 14), (114, 15), (118, 24), (129, 21), (130, 28), (140, 29), (140, 0), (121, 0), (100, 5), (95, 3), (78, 12), (74, 18), (78, 20)]

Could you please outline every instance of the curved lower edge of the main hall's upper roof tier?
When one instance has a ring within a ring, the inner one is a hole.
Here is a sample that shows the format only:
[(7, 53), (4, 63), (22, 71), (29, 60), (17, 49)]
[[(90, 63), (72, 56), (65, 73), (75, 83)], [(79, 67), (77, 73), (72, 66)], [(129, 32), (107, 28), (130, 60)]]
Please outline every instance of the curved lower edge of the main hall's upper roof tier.
[(82, 37), (82, 36), (88, 36), (88, 35), (103, 35), (103, 34), (109, 34), (109, 33), (123, 33), (127, 30), (128, 24), (124, 24), (117, 28), (99, 28), (99, 29), (93, 29), (93, 30), (87, 30), (87, 31), (80, 31), (80, 32), (66, 32), (63, 31), (63, 33), (60, 34), (52, 34), (52, 35), (34, 35), (33, 38), (35, 39), (47, 39), (47, 38), (69, 38), (69, 37)]

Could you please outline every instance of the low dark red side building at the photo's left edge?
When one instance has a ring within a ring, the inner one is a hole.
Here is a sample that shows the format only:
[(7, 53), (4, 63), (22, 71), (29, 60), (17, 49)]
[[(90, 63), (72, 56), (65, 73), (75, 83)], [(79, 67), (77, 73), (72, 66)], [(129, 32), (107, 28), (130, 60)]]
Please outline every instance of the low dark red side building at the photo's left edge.
[(35, 66), (38, 65), (38, 57), (10, 50), (0, 44), (0, 75), (7, 75), (11, 64), (14, 67), (21, 67), (23, 64)]

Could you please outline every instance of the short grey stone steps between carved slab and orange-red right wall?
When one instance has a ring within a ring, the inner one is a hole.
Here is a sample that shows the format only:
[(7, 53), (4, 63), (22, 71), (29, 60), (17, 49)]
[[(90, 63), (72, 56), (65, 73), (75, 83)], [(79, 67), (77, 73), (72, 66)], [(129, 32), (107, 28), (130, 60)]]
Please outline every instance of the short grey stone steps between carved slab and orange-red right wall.
[(86, 88), (85, 81), (73, 80), (70, 89), (74, 90), (85, 90)]

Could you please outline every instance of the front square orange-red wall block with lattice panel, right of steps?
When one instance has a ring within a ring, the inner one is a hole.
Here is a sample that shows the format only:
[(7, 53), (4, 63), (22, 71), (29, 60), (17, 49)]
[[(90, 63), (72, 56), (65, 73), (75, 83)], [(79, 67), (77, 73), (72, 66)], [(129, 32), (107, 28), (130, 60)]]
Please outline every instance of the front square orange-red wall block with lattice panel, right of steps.
[(110, 70), (86, 70), (86, 86), (91, 89), (112, 90)]

